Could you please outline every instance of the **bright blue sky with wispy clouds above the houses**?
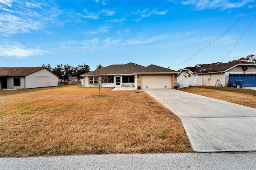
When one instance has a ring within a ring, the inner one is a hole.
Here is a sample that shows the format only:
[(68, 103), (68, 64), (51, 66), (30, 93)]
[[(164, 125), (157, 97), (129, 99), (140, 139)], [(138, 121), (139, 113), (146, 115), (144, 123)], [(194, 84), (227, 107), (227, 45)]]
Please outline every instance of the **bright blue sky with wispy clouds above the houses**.
[[(178, 70), (219, 62), (256, 16), (255, 3), (0, 0), (0, 66), (77, 67), (85, 63), (92, 71), (98, 63), (106, 67), (133, 62)], [(226, 34), (182, 63), (228, 30), (250, 8)], [(255, 20), (222, 62), (250, 54), (256, 54)]]

